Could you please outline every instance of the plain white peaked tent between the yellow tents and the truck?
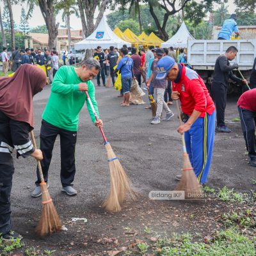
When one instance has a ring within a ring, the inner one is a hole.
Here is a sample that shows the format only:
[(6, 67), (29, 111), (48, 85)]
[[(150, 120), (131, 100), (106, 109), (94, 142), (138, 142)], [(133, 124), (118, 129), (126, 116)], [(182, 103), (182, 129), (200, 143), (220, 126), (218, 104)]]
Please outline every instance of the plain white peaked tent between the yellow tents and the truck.
[(168, 41), (161, 44), (161, 47), (188, 47), (188, 40), (195, 40), (195, 38), (193, 38), (193, 36), (189, 33), (188, 28), (183, 21), (177, 33)]

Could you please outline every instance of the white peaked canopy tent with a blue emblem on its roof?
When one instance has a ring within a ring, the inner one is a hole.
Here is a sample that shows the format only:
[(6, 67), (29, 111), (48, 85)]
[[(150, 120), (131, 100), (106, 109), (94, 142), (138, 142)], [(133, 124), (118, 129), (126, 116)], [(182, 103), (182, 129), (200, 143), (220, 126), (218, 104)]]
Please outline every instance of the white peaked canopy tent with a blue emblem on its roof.
[(106, 17), (104, 16), (92, 35), (75, 44), (75, 50), (95, 49), (97, 46), (101, 46), (103, 49), (109, 48), (110, 46), (121, 48), (124, 44), (128, 47), (131, 46), (131, 43), (125, 42), (119, 38), (111, 28), (109, 28)]

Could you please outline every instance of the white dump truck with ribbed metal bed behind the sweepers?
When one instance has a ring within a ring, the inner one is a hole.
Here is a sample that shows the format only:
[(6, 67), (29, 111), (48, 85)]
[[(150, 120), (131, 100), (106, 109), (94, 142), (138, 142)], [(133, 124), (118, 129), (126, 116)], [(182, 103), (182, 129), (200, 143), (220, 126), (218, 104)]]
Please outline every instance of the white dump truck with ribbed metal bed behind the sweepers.
[[(215, 61), (232, 45), (238, 52), (236, 59), (230, 61), (230, 64), (237, 63), (244, 78), (249, 81), (256, 58), (256, 40), (188, 40), (188, 63), (204, 79), (210, 91)], [(240, 77), (236, 70), (233, 72)], [(241, 92), (241, 86), (237, 86), (234, 81), (230, 81), (229, 85), (228, 93)]]

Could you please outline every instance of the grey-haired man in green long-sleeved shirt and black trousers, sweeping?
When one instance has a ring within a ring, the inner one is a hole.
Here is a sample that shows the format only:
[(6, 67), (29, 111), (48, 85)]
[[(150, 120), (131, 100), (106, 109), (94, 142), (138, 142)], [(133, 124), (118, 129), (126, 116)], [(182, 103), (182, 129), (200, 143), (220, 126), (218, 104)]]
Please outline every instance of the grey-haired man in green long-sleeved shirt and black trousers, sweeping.
[[(60, 135), (61, 148), (61, 184), (62, 191), (67, 195), (77, 194), (73, 188), (73, 180), (76, 173), (75, 148), (79, 112), (86, 105), (93, 124), (102, 127), (102, 120), (96, 121), (92, 108), (84, 91), (92, 100), (93, 106), (99, 118), (97, 102), (95, 100), (95, 88), (91, 79), (97, 76), (100, 70), (99, 61), (88, 58), (83, 61), (82, 66), (62, 66), (52, 81), (51, 95), (42, 115), (42, 126), (40, 131), (40, 149), (44, 159), (41, 161), (45, 182), (48, 180), (48, 170), (52, 158), (52, 149), (56, 136)], [(40, 176), (37, 170), (36, 188), (31, 194), (33, 197), (42, 195), (40, 188)]]

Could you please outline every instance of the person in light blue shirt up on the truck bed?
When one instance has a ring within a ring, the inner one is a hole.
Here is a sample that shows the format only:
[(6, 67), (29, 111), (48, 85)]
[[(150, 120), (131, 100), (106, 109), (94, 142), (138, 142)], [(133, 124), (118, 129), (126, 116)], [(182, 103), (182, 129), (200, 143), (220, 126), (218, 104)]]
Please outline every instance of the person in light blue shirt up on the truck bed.
[(223, 26), (218, 35), (218, 40), (230, 40), (233, 32), (239, 36), (235, 13), (231, 14), (229, 19), (224, 20)]

